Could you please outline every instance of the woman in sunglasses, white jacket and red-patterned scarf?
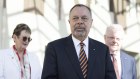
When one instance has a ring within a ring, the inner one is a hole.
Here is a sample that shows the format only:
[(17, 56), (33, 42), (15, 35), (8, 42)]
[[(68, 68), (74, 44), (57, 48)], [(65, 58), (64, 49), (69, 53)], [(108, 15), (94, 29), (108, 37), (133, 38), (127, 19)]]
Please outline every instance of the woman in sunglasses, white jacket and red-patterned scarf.
[(18, 24), (12, 38), (14, 45), (0, 51), (0, 79), (41, 79), (41, 66), (37, 56), (26, 48), (30, 41), (31, 29)]

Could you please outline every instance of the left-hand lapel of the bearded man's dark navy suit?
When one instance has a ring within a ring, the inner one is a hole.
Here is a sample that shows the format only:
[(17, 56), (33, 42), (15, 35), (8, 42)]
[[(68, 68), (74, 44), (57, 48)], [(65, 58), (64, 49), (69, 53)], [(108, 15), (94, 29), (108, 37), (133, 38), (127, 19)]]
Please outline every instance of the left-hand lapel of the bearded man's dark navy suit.
[(70, 62), (72, 63), (72, 66), (75, 70), (75, 72), (77, 73), (77, 75), (79, 75), (80, 79), (83, 79), (83, 74), (81, 71), (81, 67), (79, 64), (79, 60), (76, 54), (76, 50), (72, 41), (72, 37), (71, 35), (69, 37), (66, 38), (66, 53), (70, 59)]

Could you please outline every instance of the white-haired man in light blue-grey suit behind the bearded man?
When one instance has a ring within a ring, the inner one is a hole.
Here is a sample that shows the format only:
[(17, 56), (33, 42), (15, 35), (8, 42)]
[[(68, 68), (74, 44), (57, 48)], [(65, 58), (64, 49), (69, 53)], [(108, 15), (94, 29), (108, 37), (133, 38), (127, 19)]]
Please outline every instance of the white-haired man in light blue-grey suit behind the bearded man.
[(117, 64), (114, 69), (116, 69), (116, 76), (118, 74), (117, 79), (137, 79), (135, 59), (121, 50), (123, 37), (123, 27), (119, 24), (112, 24), (106, 29), (105, 44), (109, 47), (112, 61), (113, 56), (116, 59)]

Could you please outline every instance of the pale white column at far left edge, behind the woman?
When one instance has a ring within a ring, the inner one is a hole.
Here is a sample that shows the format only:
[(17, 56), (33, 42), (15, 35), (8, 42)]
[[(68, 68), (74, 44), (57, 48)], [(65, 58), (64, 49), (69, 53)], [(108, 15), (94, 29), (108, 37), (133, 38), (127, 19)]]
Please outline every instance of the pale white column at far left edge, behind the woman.
[(9, 47), (7, 13), (5, 3), (6, 0), (0, 0), (0, 49)]

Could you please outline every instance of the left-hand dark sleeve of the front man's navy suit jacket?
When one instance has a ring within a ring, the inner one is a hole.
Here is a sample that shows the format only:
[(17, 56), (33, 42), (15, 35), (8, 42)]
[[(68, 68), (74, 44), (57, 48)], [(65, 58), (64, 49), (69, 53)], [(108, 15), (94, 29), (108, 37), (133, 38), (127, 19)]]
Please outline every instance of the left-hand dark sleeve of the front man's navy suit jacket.
[(41, 79), (57, 79), (56, 51), (52, 43), (49, 43), (45, 49), (45, 58)]

